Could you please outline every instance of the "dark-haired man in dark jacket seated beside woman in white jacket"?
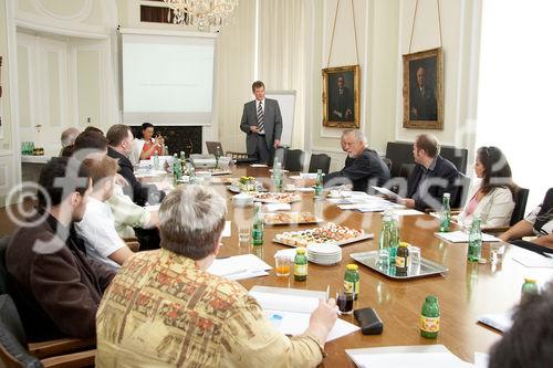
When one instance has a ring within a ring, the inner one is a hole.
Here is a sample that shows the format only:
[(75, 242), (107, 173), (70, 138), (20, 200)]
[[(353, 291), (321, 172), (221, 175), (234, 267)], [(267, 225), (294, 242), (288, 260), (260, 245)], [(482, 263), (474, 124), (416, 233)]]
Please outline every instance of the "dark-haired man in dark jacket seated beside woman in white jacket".
[(407, 198), (400, 202), (419, 211), (438, 209), (444, 193), (457, 198), (459, 171), (451, 161), (439, 155), (438, 138), (431, 134), (419, 135), (413, 145), (415, 169), (407, 181)]

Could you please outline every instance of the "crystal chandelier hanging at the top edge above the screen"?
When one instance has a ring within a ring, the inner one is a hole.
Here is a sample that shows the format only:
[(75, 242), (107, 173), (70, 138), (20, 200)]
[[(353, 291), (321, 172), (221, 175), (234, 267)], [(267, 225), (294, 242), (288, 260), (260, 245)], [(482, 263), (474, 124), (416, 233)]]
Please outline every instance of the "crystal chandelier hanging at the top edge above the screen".
[[(174, 12), (175, 24), (197, 25), (204, 31), (212, 28), (219, 31), (232, 11), (238, 0), (164, 0)], [(170, 12), (167, 15), (170, 20)]]

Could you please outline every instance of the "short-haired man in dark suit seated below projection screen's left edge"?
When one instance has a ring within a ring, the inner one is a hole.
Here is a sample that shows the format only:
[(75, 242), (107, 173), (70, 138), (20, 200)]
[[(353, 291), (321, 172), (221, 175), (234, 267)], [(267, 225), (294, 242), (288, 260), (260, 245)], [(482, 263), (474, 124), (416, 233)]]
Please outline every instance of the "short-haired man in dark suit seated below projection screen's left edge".
[(143, 186), (136, 180), (133, 164), (128, 159), (133, 151), (134, 140), (131, 128), (123, 124), (115, 124), (107, 130), (106, 138), (107, 156), (118, 161), (118, 174), (128, 182), (128, 186), (123, 188), (125, 194), (138, 206), (144, 206), (146, 202), (149, 204), (160, 202), (165, 197), (164, 192), (157, 190), (156, 186)]

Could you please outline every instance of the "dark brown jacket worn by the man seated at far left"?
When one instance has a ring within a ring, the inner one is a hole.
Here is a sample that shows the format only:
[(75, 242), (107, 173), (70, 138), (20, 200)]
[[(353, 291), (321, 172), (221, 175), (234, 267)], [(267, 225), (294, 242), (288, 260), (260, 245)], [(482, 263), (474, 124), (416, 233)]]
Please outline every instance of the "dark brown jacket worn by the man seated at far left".
[[(36, 240), (51, 241), (51, 253), (33, 250)], [(36, 227), (20, 228), (8, 244), (10, 294), (29, 339), (95, 336), (96, 311), (115, 272), (81, 248), (76, 232), (51, 215)]]

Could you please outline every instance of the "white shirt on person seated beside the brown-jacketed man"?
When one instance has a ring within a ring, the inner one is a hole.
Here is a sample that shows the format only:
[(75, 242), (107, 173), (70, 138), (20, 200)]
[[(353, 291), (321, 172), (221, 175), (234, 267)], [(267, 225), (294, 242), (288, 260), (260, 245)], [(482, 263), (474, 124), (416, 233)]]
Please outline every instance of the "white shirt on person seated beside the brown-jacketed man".
[(75, 229), (84, 239), (86, 255), (103, 262), (113, 270), (119, 269), (119, 265), (109, 260), (108, 256), (126, 245), (115, 231), (113, 213), (108, 203), (88, 197), (83, 220), (75, 222)]

